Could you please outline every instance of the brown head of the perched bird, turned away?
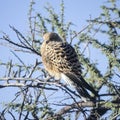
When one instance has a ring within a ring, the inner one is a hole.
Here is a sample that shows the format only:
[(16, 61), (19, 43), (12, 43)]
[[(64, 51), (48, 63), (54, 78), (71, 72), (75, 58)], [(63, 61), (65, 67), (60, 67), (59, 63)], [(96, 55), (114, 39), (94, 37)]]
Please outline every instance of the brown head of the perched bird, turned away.
[(43, 34), (44, 41), (62, 41), (60, 36), (57, 33), (48, 32)]

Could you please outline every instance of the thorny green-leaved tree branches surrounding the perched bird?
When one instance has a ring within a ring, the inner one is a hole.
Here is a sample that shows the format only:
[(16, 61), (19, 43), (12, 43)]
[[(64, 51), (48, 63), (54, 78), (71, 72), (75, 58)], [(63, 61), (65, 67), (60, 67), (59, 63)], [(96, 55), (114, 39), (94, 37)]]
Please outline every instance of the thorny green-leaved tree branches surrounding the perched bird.
[[(63, 0), (60, 14), (48, 4), (44, 8), (47, 13), (45, 17), (40, 12), (34, 12), (34, 5), (35, 2), (32, 1), (28, 13), (28, 35), (23, 35), (13, 26), (10, 28), (16, 33), (18, 42), (4, 32), (1, 34), (1, 45), (13, 48), (11, 52), (19, 61), (0, 61), (0, 69), (5, 71), (0, 76), (1, 90), (16, 87), (13, 99), (8, 103), (1, 103), (1, 119), (5, 120), (8, 115), (14, 120), (77, 120), (81, 116), (87, 120), (92, 117), (119, 119), (120, 9), (117, 1), (107, 1), (106, 5), (101, 6), (102, 13), (99, 17), (88, 20), (89, 25), (79, 32), (72, 29), (72, 22), (65, 22)], [(69, 39), (68, 42), (74, 44), (83, 64), (83, 76), (99, 92), (99, 99), (81, 101), (73, 88), (64, 82), (58, 83), (44, 70), (40, 45), (42, 34), (48, 31), (57, 32), (64, 41)], [(97, 35), (100, 37), (96, 37)], [(86, 45), (84, 48), (83, 44)], [(87, 49), (91, 57), (86, 56)], [(99, 52), (100, 56), (97, 62), (95, 51)], [(28, 65), (19, 57), (19, 53), (36, 60)]]

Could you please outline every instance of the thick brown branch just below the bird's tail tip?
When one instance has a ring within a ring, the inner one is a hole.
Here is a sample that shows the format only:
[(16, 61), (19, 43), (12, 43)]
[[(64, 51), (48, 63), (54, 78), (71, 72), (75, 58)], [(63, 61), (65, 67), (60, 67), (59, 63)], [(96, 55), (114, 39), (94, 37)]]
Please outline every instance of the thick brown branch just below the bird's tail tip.
[[(111, 102), (115, 103), (115, 101), (111, 101)], [(117, 107), (120, 108), (120, 105), (117, 106), (117, 103), (118, 103), (118, 101), (116, 101), (116, 108)], [(119, 103), (120, 103), (120, 101), (119, 101)], [(100, 107), (96, 108), (95, 106), (97, 104), (99, 104)], [(106, 106), (105, 104), (106, 104), (106, 101), (99, 101), (98, 103), (97, 102), (93, 103), (91, 101), (88, 101), (88, 102), (81, 102), (80, 101), (80, 102), (77, 102), (77, 103), (75, 102), (75, 103), (72, 103), (70, 105), (65, 105), (65, 107), (63, 107), (58, 112), (56, 112), (55, 115), (52, 118), (48, 118), (48, 119), (49, 120), (52, 120), (53, 118), (57, 118), (58, 119), (60, 116), (66, 114), (66, 113), (77, 111), (80, 107), (81, 108), (84, 108), (84, 107), (93, 107), (94, 109), (101, 111), (101, 112), (99, 112), (99, 114), (103, 115), (103, 114), (105, 114), (105, 112), (107, 112), (108, 110), (111, 109), (110, 106)]]

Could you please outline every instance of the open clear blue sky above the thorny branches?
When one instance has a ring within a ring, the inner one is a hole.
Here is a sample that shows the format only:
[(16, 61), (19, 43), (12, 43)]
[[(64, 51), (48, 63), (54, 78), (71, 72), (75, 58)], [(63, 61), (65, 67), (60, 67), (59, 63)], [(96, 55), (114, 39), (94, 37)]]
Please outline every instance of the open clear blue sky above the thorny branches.
[[(0, 2), (0, 31), (4, 31), (14, 40), (15, 34), (9, 28), (9, 25), (15, 26), (20, 32), (27, 34), (28, 32), (28, 11), (30, 0), (2, 0)], [(35, 10), (45, 15), (43, 9), (47, 3), (50, 3), (55, 11), (59, 10), (61, 0), (36, 0)], [(73, 21), (75, 29), (80, 31), (86, 26), (86, 20), (97, 17), (101, 11), (100, 5), (104, 0), (65, 0), (65, 20)], [(4, 55), (0, 54), (0, 58), (5, 61), (11, 58), (8, 48), (0, 46), (0, 50), (4, 51)]]

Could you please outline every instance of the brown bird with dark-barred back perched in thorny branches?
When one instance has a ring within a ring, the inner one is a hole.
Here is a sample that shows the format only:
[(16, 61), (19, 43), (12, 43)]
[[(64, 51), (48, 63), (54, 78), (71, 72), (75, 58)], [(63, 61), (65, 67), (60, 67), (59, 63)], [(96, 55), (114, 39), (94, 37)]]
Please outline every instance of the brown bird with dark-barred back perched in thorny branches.
[[(82, 77), (82, 67), (75, 49), (55, 32), (43, 34), (41, 57), (44, 67), (56, 80), (63, 79), (74, 87), (83, 101), (93, 100), (98, 93)], [(89, 91), (89, 92), (88, 92)]]

